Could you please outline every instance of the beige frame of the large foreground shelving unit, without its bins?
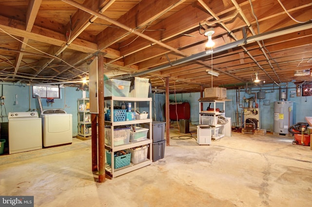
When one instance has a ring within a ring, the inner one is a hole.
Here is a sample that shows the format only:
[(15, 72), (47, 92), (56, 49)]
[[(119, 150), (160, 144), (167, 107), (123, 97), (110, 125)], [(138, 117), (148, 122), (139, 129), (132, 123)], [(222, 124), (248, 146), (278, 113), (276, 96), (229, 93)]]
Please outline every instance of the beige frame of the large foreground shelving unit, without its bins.
[[(105, 143), (105, 149), (108, 150), (109, 152), (112, 153), (112, 155), (114, 155), (114, 152), (117, 152), (119, 150), (126, 150), (126, 149), (130, 149), (130, 148), (134, 148), (134, 147), (138, 147), (138, 146), (142, 146), (142, 145), (149, 145), (149, 158), (146, 161), (134, 164), (134, 163), (130, 163), (130, 165), (125, 166), (125, 167), (121, 167), (118, 169), (114, 169), (115, 163), (114, 163), (114, 156), (111, 156), (111, 165), (109, 165), (107, 162), (105, 163), (105, 171), (106, 174), (109, 175), (110, 177), (117, 177), (119, 175), (125, 174), (125, 173), (129, 173), (132, 171), (135, 171), (139, 168), (145, 167), (147, 165), (152, 164), (152, 119), (144, 119), (144, 120), (132, 120), (132, 121), (114, 121), (114, 105), (115, 103), (125, 103), (125, 102), (131, 102), (133, 103), (133, 109), (134, 111), (137, 110), (138, 108), (138, 104), (141, 102), (145, 102), (148, 103), (149, 106), (149, 115), (152, 114), (152, 98), (132, 98), (132, 97), (104, 97), (104, 104), (105, 106), (109, 105), (109, 109), (111, 110), (111, 121), (105, 121), (105, 125), (106, 126), (111, 126), (110, 129), (106, 129), (106, 130), (111, 130), (111, 146), (108, 146)], [(123, 145), (119, 145), (119, 146), (114, 146), (114, 127), (116, 126), (121, 126), (121, 125), (135, 125), (135, 124), (140, 124), (140, 123), (149, 123), (149, 131), (148, 133), (150, 133), (149, 135), (149, 139), (146, 140), (142, 140), (142, 141), (137, 141), (134, 143), (129, 143), (129, 144), (123, 144)]]

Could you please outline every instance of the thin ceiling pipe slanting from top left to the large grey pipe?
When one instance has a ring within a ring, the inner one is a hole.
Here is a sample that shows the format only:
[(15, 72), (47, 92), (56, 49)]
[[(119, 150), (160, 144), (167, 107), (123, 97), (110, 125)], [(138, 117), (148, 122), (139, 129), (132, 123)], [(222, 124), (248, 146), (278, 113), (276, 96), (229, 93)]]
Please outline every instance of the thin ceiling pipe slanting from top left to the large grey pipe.
[(128, 31), (130, 33), (133, 33), (133, 34), (138, 35), (138, 36), (140, 36), (140, 37), (142, 37), (142, 38), (144, 38), (146, 40), (149, 40), (149, 41), (151, 41), (153, 43), (156, 43), (157, 45), (160, 45), (161, 47), (164, 47), (164, 48), (166, 48), (168, 50), (176, 52), (177, 54), (181, 54), (183, 56), (187, 56), (184, 52), (181, 52), (181, 51), (177, 50), (176, 48), (168, 46), (168, 45), (166, 45), (166, 44), (164, 44), (164, 43), (162, 43), (162, 42), (160, 42), (160, 41), (158, 41), (158, 40), (156, 40), (156, 39), (154, 39), (154, 38), (152, 38), (152, 37), (150, 37), (148, 35), (145, 35), (143, 33), (137, 32), (135, 29), (130, 28), (130, 27), (128, 27), (128, 26), (126, 26), (126, 25), (124, 25), (124, 24), (114, 20), (114, 19), (106, 17), (106, 16), (104, 16), (104, 15), (102, 15), (102, 14), (96, 12), (96, 11), (93, 11), (92, 9), (89, 9), (88, 7), (79, 4), (79, 3), (75, 2), (74, 0), (62, 0), (62, 1), (68, 3), (68, 4), (72, 5), (72, 6), (75, 6), (78, 9), (81, 9), (81, 10), (83, 10), (83, 11), (85, 11), (85, 12), (91, 14), (91, 15), (94, 15), (94, 16), (96, 16), (98, 18), (101, 18), (101, 19), (103, 19), (105, 21), (108, 21), (108, 22), (110, 22), (112, 24), (115, 24), (117, 27), (120, 27), (120, 28), (122, 28), (122, 29), (124, 29), (124, 30), (126, 30), (126, 31)]

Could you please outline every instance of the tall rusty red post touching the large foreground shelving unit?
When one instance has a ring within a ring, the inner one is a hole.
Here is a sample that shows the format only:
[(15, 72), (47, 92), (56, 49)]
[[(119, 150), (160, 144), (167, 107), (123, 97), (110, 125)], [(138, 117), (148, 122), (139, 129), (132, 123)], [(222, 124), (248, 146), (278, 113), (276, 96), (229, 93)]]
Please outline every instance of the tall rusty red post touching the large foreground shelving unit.
[(98, 54), (98, 182), (105, 180), (104, 57)]

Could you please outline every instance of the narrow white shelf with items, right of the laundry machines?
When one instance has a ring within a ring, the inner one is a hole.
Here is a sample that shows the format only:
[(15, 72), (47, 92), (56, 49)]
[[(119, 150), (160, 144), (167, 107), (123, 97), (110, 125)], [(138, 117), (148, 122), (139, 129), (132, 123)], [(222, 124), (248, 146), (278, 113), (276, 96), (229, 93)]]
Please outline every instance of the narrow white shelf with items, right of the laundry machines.
[(88, 98), (78, 99), (78, 135), (91, 136), (91, 114)]

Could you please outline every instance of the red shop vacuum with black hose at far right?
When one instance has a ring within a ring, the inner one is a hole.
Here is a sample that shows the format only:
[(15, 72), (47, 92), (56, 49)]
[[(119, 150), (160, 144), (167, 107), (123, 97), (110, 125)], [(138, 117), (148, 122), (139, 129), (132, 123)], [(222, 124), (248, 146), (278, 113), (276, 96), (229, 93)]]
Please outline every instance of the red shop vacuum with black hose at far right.
[(294, 141), (292, 141), (292, 144), (310, 146), (310, 133), (308, 127), (308, 123), (298, 122), (288, 128), (288, 131), (294, 135)]

